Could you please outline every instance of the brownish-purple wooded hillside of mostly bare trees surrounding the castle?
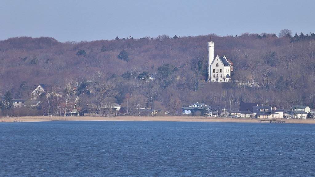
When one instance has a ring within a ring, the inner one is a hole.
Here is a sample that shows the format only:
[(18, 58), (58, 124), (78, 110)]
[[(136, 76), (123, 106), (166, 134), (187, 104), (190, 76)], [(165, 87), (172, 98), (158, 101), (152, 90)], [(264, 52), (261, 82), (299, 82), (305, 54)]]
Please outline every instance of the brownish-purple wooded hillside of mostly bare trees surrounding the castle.
[[(259, 87), (204, 82), (210, 40), (215, 42), (215, 55), (233, 62), (233, 81), (252, 81)], [(31, 99), (34, 85), (53, 86), (63, 95), (59, 106), (50, 97), (38, 97), (43, 103), (39, 115), (47, 114), (48, 106), (48, 114), (58, 115), (50, 108), (60, 109), (68, 96), (69, 102), (79, 96), (83, 109), (117, 103), (130, 115), (137, 115), (140, 106), (177, 114), (180, 107), (196, 101), (214, 110), (229, 108), (230, 100), (233, 108), (241, 102), (257, 102), (289, 109), (303, 99), (303, 105), (314, 108), (314, 46), (314, 33), (292, 35), (289, 30), (278, 36), (117, 36), (65, 43), (51, 37), (15, 37), (0, 41), (0, 94)], [(69, 92), (69, 86), (75, 91)]]

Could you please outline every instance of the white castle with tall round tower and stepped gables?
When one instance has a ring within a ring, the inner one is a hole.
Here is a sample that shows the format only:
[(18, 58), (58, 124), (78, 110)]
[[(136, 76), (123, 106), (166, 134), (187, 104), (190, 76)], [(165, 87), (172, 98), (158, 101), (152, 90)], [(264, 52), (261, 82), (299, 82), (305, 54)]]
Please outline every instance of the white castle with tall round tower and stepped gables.
[(225, 56), (214, 58), (214, 42), (208, 42), (208, 81), (230, 82), (233, 63)]

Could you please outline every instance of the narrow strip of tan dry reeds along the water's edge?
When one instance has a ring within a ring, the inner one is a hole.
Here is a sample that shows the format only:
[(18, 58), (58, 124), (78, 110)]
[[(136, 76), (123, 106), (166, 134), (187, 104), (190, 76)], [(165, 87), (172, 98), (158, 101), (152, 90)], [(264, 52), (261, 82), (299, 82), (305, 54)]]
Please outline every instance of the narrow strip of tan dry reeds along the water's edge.
[[(299, 119), (277, 119), (284, 120), (285, 123), (315, 124), (315, 120)], [(116, 117), (96, 117), (96, 116), (25, 116), (25, 117), (0, 117), (0, 122), (43, 122), (43, 121), (180, 121), (180, 122), (244, 122), (260, 123), (260, 121), (271, 121), (271, 119), (243, 119), (230, 117), (193, 117), (193, 116), (116, 116)]]

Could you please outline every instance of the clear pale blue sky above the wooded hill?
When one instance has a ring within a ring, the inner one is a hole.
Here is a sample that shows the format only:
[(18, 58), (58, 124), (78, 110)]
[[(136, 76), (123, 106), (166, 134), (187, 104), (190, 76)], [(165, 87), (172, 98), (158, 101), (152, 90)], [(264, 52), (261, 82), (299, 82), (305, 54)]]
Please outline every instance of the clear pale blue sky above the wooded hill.
[(0, 0), (0, 40), (61, 42), (242, 33), (315, 32), (313, 0)]

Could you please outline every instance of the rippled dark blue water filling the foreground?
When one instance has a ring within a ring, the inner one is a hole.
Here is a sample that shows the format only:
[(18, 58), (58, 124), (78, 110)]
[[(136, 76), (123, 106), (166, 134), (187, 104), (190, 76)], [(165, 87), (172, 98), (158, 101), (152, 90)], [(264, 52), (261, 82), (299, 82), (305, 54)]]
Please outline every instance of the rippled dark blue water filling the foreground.
[(315, 124), (0, 123), (0, 176), (315, 176)]

